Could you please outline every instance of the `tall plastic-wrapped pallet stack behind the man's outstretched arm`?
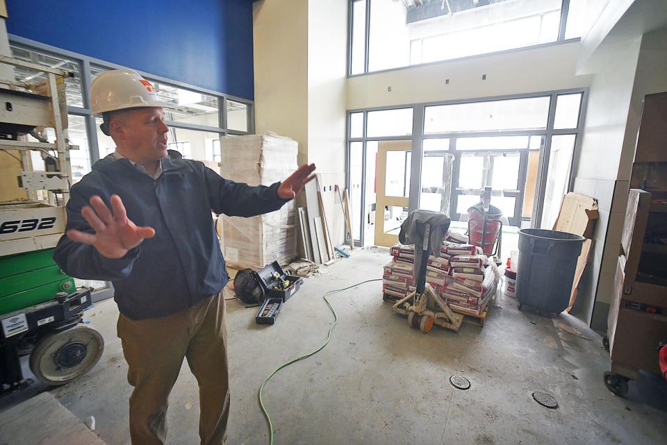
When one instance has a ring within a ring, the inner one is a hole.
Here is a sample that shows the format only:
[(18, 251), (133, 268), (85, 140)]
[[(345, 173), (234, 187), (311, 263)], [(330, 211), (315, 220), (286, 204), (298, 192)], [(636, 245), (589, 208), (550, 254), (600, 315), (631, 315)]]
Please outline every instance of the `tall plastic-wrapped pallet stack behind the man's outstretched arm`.
[[(295, 140), (277, 135), (221, 138), (220, 174), (248, 185), (272, 185), (297, 169)], [(296, 256), (295, 204), (256, 217), (222, 219), (224, 259), (230, 267), (261, 269), (270, 262), (288, 264)]]

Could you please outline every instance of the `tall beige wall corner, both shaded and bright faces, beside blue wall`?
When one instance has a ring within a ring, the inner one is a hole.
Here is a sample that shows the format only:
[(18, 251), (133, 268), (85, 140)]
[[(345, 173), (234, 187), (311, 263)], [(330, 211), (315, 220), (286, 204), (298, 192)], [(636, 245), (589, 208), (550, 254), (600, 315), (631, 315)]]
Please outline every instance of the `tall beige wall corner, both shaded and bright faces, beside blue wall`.
[(343, 244), (334, 185), (345, 187), (347, 2), (263, 0), (253, 13), (256, 133), (299, 142), (299, 163), (317, 165), (331, 239)]

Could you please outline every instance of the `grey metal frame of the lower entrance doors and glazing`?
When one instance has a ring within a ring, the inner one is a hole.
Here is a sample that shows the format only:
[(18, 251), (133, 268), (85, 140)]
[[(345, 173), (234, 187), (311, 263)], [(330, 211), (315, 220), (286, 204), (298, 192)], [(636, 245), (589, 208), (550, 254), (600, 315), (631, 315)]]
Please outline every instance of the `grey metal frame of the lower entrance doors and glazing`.
[[(562, 94), (582, 94), (582, 99), (579, 104), (579, 117), (577, 119), (576, 128), (565, 128), (555, 130), (554, 119), (556, 115), (556, 103), (558, 96)], [(425, 126), (425, 109), (428, 106), (441, 106), (441, 105), (456, 105), (461, 103), (477, 103), (477, 102), (489, 102), (489, 101), (502, 101), (508, 99), (527, 99), (532, 97), (550, 97), (549, 111), (547, 114), (547, 126), (543, 129), (534, 129), (534, 130), (513, 130), (513, 131), (468, 131), (468, 132), (446, 132), (446, 133), (429, 133), (428, 135), (424, 134)], [(446, 153), (454, 154), (454, 176), (452, 180), (458, 180), (459, 177), (459, 157), (456, 156), (456, 153), (461, 153), (460, 150), (456, 150), (456, 139), (461, 137), (484, 137), (484, 136), (544, 136), (545, 144), (544, 148), (540, 150), (540, 158), (538, 161), (538, 172), (536, 182), (539, 183), (539, 187), (536, 188), (534, 196), (534, 205), (533, 205), (533, 214), (531, 217), (531, 226), (539, 227), (541, 225), (542, 219), (542, 210), (544, 207), (544, 192), (545, 185), (547, 180), (547, 170), (549, 167), (549, 154), (551, 149), (551, 139), (554, 135), (576, 135), (575, 136), (575, 147), (573, 152), (572, 162), (570, 164), (570, 178), (568, 178), (568, 192), (571, 192), (574, 187), (575, 181), (575, 172), (577, 171), (579, 165), (579, 156), (581, 152), (582, 144), (582, 133), (585, 125), (586, 117), (586, 106), (588, 104), (588, 87), (579, 87), (579, 88), (568, 88), (565, 90), (551, 90), (544, 92), (532, 92), (532, 93), (522, 93), (522, 94), (506, 94), (502, 96), (486, 96), (478, 97), (473, 99), (454, 99), (450, 101), (432, 101), (432, 102), (422, 102), (422, 103), (408, 103), (400, 104), (393, 106), (385, 107), (371, 107), (371, 108), (355, 108), (352, 110), (347, 110), (346, 117), (346, 128), (345, 128), (345, 146), (346, 146), (346, 178), (345, 185), (349, 190), (350, 187), (350, 143), (351, 142), (362, 142), (362, 168), (361, 168), (361, 212), (360, 212), (360, 221), (361, 230), (359, 240), (354, 240), (355, 245), (363, 246), (364, 234), (365, 234), (365, 207), (366, 207), (366, 144), (368, 142), (374, 141), (383, 141), (383, 140), (411, 140), (412, 149), (411, 149), (411, 179), (410, 179), (410, 197), (409, 197), (409, 211), (416, 210), (419, 208), (419, 199), (420, 199), (420, 190), (421, 190), (421, 176), (422, 176), (422, 158), (424, 156), (423, 151), (423, 141), (427, 139), (449, 139), (450, 144)], [(413, 113), (413, 130), (411, 136), (384, 136), (384, 137), (368, 137), (367, 126), (368, 126), (368, 112), (372, 111), (381, 111), (381, 110), (395, 110), (400, 108), (412, 108)], [(349, 133), (351, 131), (352, 115), (354, 113), (362, 112), (363, 113), (363, 132), (361, 137), (350, 137)], [(527, 159), (520, 162), (520, 177), (527, 174)], [(452, 185), (452, 195), (456, 192), (456, 187)], [(415, 192), (418, 191), (418, 192)], [(523, 191), (520, 191), (521, 201), (523, 201)], [(522, 204), (522, 202), (521, 202)], [(518, 200), (516, 206), (518, 206)], [(456, 210), (456, 199), (452, 196), (450, 201), (450, 215)], [(377, 211), (377, 209), (376, 209)]]

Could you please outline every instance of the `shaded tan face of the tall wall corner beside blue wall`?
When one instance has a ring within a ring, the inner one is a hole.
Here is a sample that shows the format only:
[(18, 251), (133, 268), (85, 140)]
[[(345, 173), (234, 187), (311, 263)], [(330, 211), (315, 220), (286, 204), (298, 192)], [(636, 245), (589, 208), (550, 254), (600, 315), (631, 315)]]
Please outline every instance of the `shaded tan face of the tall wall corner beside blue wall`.
[(299, 142), (308, 159), (308, 0), (253, 3), (255, 130)]

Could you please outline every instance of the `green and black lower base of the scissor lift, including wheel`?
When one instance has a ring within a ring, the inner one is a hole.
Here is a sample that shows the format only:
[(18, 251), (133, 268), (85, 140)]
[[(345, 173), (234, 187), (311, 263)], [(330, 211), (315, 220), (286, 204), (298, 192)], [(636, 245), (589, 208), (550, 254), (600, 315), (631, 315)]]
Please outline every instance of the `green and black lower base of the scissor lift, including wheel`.
[(104, 350), (96, 330), (81, 325), (90, 289), (77, 290), (60, 270), (53, 249), (0, 257), (0, 383), (23, 387), (21, 355), (35, 377), (62, 385), (92, 368)]

